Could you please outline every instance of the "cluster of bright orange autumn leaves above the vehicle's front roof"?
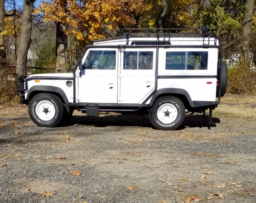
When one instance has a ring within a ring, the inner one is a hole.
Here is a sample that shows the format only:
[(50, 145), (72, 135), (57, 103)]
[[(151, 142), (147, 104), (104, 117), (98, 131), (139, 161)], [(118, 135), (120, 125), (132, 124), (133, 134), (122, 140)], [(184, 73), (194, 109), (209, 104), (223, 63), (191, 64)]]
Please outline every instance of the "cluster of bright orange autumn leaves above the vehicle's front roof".
[(43, 12), (45, 21), (67, 25), (66, 34), (90, 42), (105, 38), (104, 31), (135, 24), (133, 14), (143, 8), (143, 0), (51, 0), (44, 1), (34, 13)]

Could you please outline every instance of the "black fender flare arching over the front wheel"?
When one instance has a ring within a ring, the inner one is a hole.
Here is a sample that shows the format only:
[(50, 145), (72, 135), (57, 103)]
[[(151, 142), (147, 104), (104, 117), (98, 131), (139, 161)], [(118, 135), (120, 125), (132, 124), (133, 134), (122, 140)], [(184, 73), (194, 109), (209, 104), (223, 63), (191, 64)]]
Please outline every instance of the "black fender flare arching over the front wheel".
[(63, 98), (63, 101), (65, 102), (65, 104), (67, 106), (70, 106), (70, 104), (68, 102), (68, 97), (66, 96), (65, 92), (61, 88), (54, 87), (54, 86), (48, 86), (48, 85), (36, 85), (36, 86), (29, 88), (27, 98), (29, 98), (29, 96), (32, 94), (32, 92), (35, 92), (35, 91), (53, 92), (53, 93), (57, 92)]

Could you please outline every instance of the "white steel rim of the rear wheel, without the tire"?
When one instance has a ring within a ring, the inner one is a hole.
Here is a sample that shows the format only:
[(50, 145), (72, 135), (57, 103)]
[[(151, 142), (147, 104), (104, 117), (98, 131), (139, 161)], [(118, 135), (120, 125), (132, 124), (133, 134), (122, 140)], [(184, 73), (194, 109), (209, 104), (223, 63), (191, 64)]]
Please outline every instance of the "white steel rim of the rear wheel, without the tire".
[(164, 124), (173, 123), (177, 116), (178, 111), (173, 104), (162, 104), (157, 110), (157, 117)]

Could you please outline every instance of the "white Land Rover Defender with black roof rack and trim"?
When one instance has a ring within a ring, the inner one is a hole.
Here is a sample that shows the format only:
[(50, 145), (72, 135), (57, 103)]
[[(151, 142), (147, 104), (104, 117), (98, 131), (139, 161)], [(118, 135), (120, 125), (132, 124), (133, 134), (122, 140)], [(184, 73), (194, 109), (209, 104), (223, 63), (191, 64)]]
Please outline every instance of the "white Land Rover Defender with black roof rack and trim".
[(147, 113), (163, 130), (178, 128), (186, 111), (209, 109), (211, 124), (227, 85), (221, 40), (208, 28), (178, 31), (124, 29), (121, 37), (93, 41), (73, 73), (18, 78), (20, 103), (44, 127), (68, 120), (75, 109), (88, 116)]

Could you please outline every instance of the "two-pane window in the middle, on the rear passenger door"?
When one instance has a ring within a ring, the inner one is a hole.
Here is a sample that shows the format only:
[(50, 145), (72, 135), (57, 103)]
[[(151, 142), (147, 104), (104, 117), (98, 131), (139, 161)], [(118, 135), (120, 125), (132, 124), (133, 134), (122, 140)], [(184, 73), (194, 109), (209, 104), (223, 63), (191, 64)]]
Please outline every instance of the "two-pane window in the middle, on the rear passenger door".
[(153, 69), (153, 51), (125, 51), (124, 69), (126, 70)]

